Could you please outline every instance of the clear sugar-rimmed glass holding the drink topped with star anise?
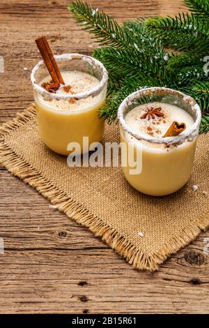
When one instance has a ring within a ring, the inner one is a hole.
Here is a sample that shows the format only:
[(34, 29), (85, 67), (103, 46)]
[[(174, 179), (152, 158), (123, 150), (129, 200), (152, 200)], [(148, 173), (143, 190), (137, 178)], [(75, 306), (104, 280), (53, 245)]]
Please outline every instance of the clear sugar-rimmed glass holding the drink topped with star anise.
[[(180, 107), (192, 116), (194, 124), (176, 137), (153, 137), (132, 131), (124, 119), (127, 112), (139, 105), (154, 102)], [(134, 155), (141, 150), (141, 173), (130, 174), (132, 167), (125, 158), (127, 152), (121, 149), (122, 163), (126, 163), (123, 166), (125, 178), (137, 191), (148, 195), (169, 195), (186, 184), (192, 172), (201, 121), (201, 110), (193, 98), (173, 89), (141, 89), (123, 100), (118, 108), (118, 121), (121, 142), (133, 148)], [(153, 144), (157, 144), (157, 147), (153, 147)]]

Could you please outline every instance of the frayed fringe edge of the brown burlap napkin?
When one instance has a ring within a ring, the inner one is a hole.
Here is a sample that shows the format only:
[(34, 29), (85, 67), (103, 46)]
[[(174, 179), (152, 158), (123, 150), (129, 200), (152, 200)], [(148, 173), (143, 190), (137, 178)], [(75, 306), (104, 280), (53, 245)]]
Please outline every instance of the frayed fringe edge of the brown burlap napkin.
[(69, 218), (73, 218), (77, 223), (88, 227), (95, 237), (100, 237), (119, 255), (123, 256), (134, 268), (148, 269), (155, 271), (159, 268), (171, 254), (176, 253), (192, 240), (194, 240), (201, 230), (205, 230), (209, 218), (199, 218), (187, 225), (183, 231), (178, 232), (176, 237), (162, 246), (160, 250), (148, 255), (139, 247), (134, 246), (127, 238), (123, 237), (114, 228), (107, 225), (101, 218), (95, 216), (82, 204), (75, 202), (69, 195), (54, 186), (48, 179), (43, 177), (34, 167), (26, 162), (24, 158), (15, 154), (15, 151), (6, 143), (4, 136), (11, 133), (16, 128), (26, 124), (36, 115), (33, 105), (24, 110), (13, 121), (3, 124), (0, 128), (0, 161), (15, 176), (22, 179), (27, 184), (45, 196), (52, 204), (56, 204), (59, 211), (63, 211)]

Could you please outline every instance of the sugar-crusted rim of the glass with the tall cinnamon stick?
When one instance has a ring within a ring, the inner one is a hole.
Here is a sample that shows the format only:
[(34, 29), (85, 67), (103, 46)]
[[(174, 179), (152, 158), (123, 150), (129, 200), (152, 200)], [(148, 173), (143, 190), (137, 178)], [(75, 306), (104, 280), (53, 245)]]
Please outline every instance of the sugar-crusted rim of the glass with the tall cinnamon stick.
[(78, 94), (68, 94), (68, 95), (59, 95), (59, 94), (52, 94), (49, 91), (45, 90), (40, 86), (40, 84), (36, 83), (36, 78), (35, 74), (40, 68), (40, 66), (45, 65), (43, 60), (40, 60), (36, 66), (33, 67), (33, 70), (31, 71), (31, 83), (33, 85), (33, 89), (36, 90), (39, 94), (48, 95), (50, 96), (51, 99), (56, 99), (56, 100), (70, 100), (72, 98), (79, 100), (79, 99), (85, 99), (88, 98), (89, 96), (98, 96), (102, 89), (104, 88), (105, 84), (107, 84), (108, 80), (108, 73), (107, 69), (104, 67), (104, 65), (98, 61), (98, 59), (95, 59), (91, 56), (87, 56), (85, 54), (77, 54), (77, 53), (72, 53), (72, 54), (57, 54), (54, 56), (56, 61), (70, 61), (72, 59), (80, 59), (84, 61), (91, 61), (91, 64), (98, 66), (102, 70), (102, 80), (95, 85), (95, 87), (89, 89), (88, 91), (84, 92), (79, 92)]

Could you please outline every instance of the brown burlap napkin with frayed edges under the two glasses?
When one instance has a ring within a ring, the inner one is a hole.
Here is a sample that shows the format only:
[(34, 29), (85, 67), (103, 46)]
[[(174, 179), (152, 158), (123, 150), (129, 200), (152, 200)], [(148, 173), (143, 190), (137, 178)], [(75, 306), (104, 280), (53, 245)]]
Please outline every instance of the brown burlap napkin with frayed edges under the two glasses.
[[(118, 140), (115, 125), (107, 126), (104, 140)], [(1, 128), (0, 160), (134, 267), (155, 270), (209, 225), (208, 144), (209, 133), (201, 135), (192, 178), (184, 188), (149, 197), (125, 181), (121, 167), (69, 168), (64, 156), (40, 140), (31, 106)]]

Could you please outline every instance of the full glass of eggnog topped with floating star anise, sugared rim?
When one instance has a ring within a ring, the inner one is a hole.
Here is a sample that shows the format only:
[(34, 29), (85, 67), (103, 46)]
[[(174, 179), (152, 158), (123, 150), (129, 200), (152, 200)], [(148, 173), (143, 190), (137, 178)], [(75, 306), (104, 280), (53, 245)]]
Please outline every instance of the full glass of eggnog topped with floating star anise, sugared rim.
[[(123, 100), (118, 121), (121, 143), (127, 146), (121, 147), (122, 167), (131, 186), (147, 195), (162, 196), (186, 184), (201, 121), (201, 110), (193, 98), (173, 89), (141, 89)], [(134, 163), (127, 158), (130, 154), (141, 161), (137, 174), (129, 164)]]

